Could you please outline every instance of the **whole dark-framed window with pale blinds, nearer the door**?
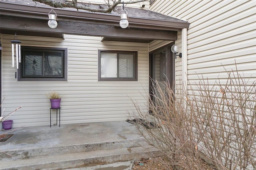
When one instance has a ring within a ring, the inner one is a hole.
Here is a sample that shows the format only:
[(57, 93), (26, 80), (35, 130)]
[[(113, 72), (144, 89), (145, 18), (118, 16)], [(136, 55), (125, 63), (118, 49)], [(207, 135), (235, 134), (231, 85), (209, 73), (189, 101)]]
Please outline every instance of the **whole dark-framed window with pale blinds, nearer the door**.
[(138, 52), (98, 51), (99, 81), (137, 81)]

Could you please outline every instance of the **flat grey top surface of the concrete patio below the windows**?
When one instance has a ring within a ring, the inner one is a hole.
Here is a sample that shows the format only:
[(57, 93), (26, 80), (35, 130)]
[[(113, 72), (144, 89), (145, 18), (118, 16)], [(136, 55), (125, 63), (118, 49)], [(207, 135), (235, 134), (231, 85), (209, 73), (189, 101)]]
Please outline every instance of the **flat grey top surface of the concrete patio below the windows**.
[[(4, 132), (11, 130), (4, 130)], [(141, 139), (136, 134), (135, 126), (125, 121), (68, 124), (51, 128), (50, 126), (23, 127), (11, 133), (14, 136), (6, 142), (1, 142), (2, 150)]]

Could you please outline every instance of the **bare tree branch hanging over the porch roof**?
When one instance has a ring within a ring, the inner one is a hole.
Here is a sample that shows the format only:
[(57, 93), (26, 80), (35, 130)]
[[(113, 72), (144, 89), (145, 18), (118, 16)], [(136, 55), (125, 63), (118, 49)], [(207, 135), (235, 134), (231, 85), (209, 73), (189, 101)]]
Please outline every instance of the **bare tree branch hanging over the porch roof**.
[[(108, 0), (106, 2), (106, 6), (108, 8), (92, 8), (90, 7), (91, 3), (83, 3), (83, 6), (80, 6), (77, 4), (77, 0), (72, 0), (72, 2), (55, 2), (54, 0), (33, 0), (34, 2), (41, 2), (43, 4), (55, 7), (55, 8), (76, 8), (77, 10), (88, 10), (91, 12), (102, 12), (102, 13), (108, 13), (111, 12), (112, 10), (115, 9), (115, 7), (118, 4), (123, 4), (122, 0)], [(148, 0), (129, 0), (124, 2), (124, 4), (134, 4), (134, 3), (138, 3), (138, 2), (144, 2), (144, 1), (148, 1)]]

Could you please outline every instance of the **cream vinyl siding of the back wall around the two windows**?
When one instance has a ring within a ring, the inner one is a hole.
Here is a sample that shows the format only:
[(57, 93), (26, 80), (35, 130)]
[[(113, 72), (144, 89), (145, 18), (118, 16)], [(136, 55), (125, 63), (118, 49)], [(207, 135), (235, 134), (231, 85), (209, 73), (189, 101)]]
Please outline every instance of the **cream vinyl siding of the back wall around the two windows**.
[[(50, 125), (50, 91), (63, 95), (61, 124), (126, 120), (135, 112), (132, 100), (146, 109), (148, 44), (101, 42), (100, 37), (66, 35), (66, 39), (18, 36), (22, 46), (68, 48), (67, 82), (17, 82), (11, 64), (12, 35), (2, 35), (2, 108), (4, 115), (22, 106), (11, 119), (14, 127)], [(98, 82), (98, 50), (138, 51), (138, 81)], [(132, 99), (132, 100), (131, 100)], [(147, 109), (146, 109), (147, 110)], [(56, 110), (52, 110), (56, 120)]]

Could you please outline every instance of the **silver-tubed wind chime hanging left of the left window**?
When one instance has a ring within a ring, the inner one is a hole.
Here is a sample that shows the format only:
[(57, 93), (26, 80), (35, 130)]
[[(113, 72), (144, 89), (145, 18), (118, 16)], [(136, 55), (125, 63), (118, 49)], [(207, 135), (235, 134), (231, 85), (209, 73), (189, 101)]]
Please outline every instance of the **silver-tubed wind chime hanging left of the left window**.
[[(14, 40), (11, 40), (12, 43), (12, 67), (14, 67), (14, 56), (16, 57), (16, 68), (19, 68), (19, 62), (21, 62), (21, 54), (20, 54), (20, 44), (21, 41), (17, 40), (17, 34), (14, 35)], [(16, 46), (16, 55), (14, 55), (14, 45)]]

